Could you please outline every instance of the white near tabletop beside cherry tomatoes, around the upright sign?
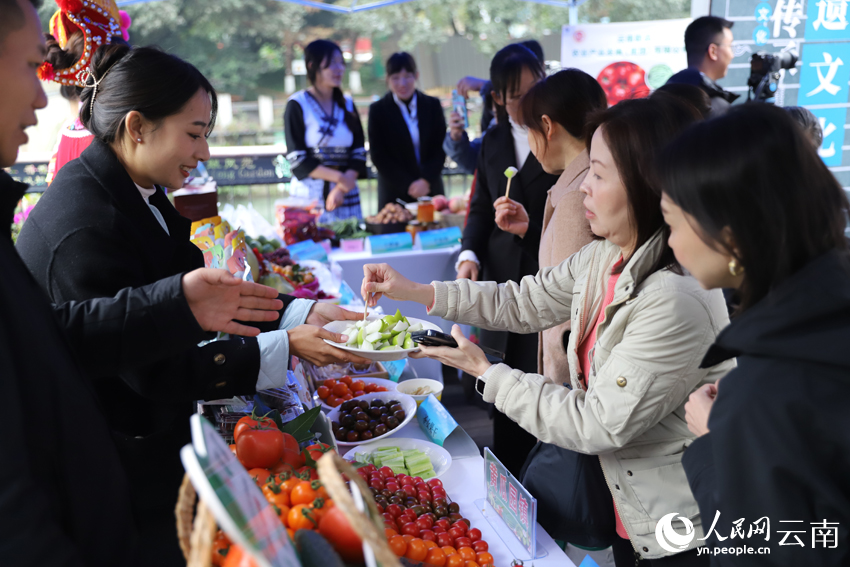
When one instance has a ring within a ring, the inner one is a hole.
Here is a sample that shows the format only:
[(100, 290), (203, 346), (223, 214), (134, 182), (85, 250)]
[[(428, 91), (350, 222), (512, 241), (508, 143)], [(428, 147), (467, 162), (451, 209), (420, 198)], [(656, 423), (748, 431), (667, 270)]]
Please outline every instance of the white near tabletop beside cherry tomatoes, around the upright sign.
[[(415, 419), (393, 437), (429, 440)], [(465, 436), (465, 438), (469, 439), (469, 436)], [(469, 451), (464, 441), (451, 444), (453, 440), (453, 438), (450, 438), (445, 446), (445, 449), (452, 455), (452, 466), (447, 473), (440, 477), (440, 480), (443, 482), (448, 495), (460, 506), (463, 516), (472, 522), (473, 527), (481, 530), (482, 539), (490, 544), (489, 551), (493, 555), (493, 559), (496, 560), (496, 565), (510, 567), (514, 557), (487, 519), (484, 518), (482, 511), (475, 505), (476, 500), (486, 497), (484, 459), (478, 454), (477, 448), (474, 450), (474, 454), (471, 454), (472, 452)], [(542, 547), (546, 550), (546, 557), (525, 561), (525, 565), (575, 567), (575, 564), (570, 561), (569, 557), (558, 547), (540, 524), (537, 524), (537, 546), (538, 549)]]

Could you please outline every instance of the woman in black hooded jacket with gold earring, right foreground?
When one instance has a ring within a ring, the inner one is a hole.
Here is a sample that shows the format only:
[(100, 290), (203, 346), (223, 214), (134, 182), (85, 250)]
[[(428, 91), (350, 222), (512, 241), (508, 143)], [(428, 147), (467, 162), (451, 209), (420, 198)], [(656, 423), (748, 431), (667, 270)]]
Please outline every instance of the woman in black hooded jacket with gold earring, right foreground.
[[(740, 301), (702, 361), (708, 367), (737, 357), (738, 368), (685, 406), (699, 437), (682, 462), (704, 525), (717, 520), (708, 543), (735, 545), (733, 522), (745, 518), (749, 532), (767, 519), (773, 533), (738, 544), (769, 547), (776, 565), (847, 565), (844, 190), (791, 115), (767, 104), (735, 108), (684, 133), (664, 152), (661, 174), (676, 258), (702, 287), (735, 288)], [(837, 530), (837, 548), (814, 544), (818, 524), (824, 533)], [(783, 535), (796, 530), (799, 540)], [(718, 556), (712, 565), (739, 559)]]

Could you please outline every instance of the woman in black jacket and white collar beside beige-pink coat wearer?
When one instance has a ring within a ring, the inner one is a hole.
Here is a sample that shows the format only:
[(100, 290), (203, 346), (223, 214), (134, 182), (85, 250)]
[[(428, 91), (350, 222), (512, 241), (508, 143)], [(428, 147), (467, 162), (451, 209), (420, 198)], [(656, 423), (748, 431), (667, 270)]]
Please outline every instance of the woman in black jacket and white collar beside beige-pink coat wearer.
[[(522, 45), (509, 45), (493, 57), (490, 80), (497, 105), (497, 124), (484, 134), (481, 142), (475, 193), (458, 258), (458, 278), (518, 282), (539, 270), (538, 248), (546, 195), (558, 176), (543, 171), (530, 152), (527, 132), (517, 124), (517, 115), (522, 95), (544, 75), (540, 61)], [(493, 203), (505, 195), (508, 167), (519, 170), (511, 181), (510, 198), (523, 203), (530, 219), (523, 238), (496, 226)], [(505, 353), (505, 363), (512, 368), (537, 371), (536, 334), (482, 330), (480, 341)], [(525, 458), (537, 440), (498, 411), (493, 417), (493, 437), (494, 453), (520, 478)]]

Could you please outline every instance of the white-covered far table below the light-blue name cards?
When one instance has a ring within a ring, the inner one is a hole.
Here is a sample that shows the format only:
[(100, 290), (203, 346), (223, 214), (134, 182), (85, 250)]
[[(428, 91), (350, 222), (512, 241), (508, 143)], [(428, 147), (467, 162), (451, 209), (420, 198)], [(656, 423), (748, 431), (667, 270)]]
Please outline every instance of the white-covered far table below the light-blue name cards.
[[(363, 266), (366, 264), (389, 264), (404, 277), (418, 283), (431, 283), (435, 280), (453, 281), (457, 275), (455, 262), (459, 253), (460, 245), (438, 250), (406, 250), (374, 255), (369, 252), (343, 252), (337, 249), (330, 253), (329, 258), (342, 267), (343, 278), (351, 289), (355, 293), (360, 293), (363, 283)], [(408, 317), (425, 319), (443, 329), (444, 332), (451, 332), (451, 322), (440, 317), (430, 317), (422, 305), (387, 298), (381, 298), (380, 305), (385, 313), (392, 314), (396, 309), (400, 309)], [(410, 363), (420, 378), (443, 381), (442, 365), (438, 361), (422, 358), (411, 359)]]

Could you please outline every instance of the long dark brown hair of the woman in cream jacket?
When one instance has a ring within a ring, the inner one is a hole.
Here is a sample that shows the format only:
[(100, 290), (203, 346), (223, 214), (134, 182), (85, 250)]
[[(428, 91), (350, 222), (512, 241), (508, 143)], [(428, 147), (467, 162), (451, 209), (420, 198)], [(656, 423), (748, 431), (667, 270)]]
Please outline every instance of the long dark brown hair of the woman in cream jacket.
[[(672, 96), (667, 100), (624, 100), (594, 113), (588, 119), (584, 134), (587, 151), (590, 152), (593, 134), (602, 128), (605, 143), (611, 150), (617, 173), (628, 195), (629, 223), (636, 234), (632, 253), (646, 244), (659, 229), (662, 230), (664, 250), (647, 275), (663, 268), (682, 274), (667, 243), (670, 228), (664, 224), (661, 214), (661, 187), (655, 158), (673, 138), (701, 119), (693, 106)], [(621, 271), (628, 261), (629, 258), (624, 258), (619, 268)], [(635, 289), (640, 283), (635, 282)]]

